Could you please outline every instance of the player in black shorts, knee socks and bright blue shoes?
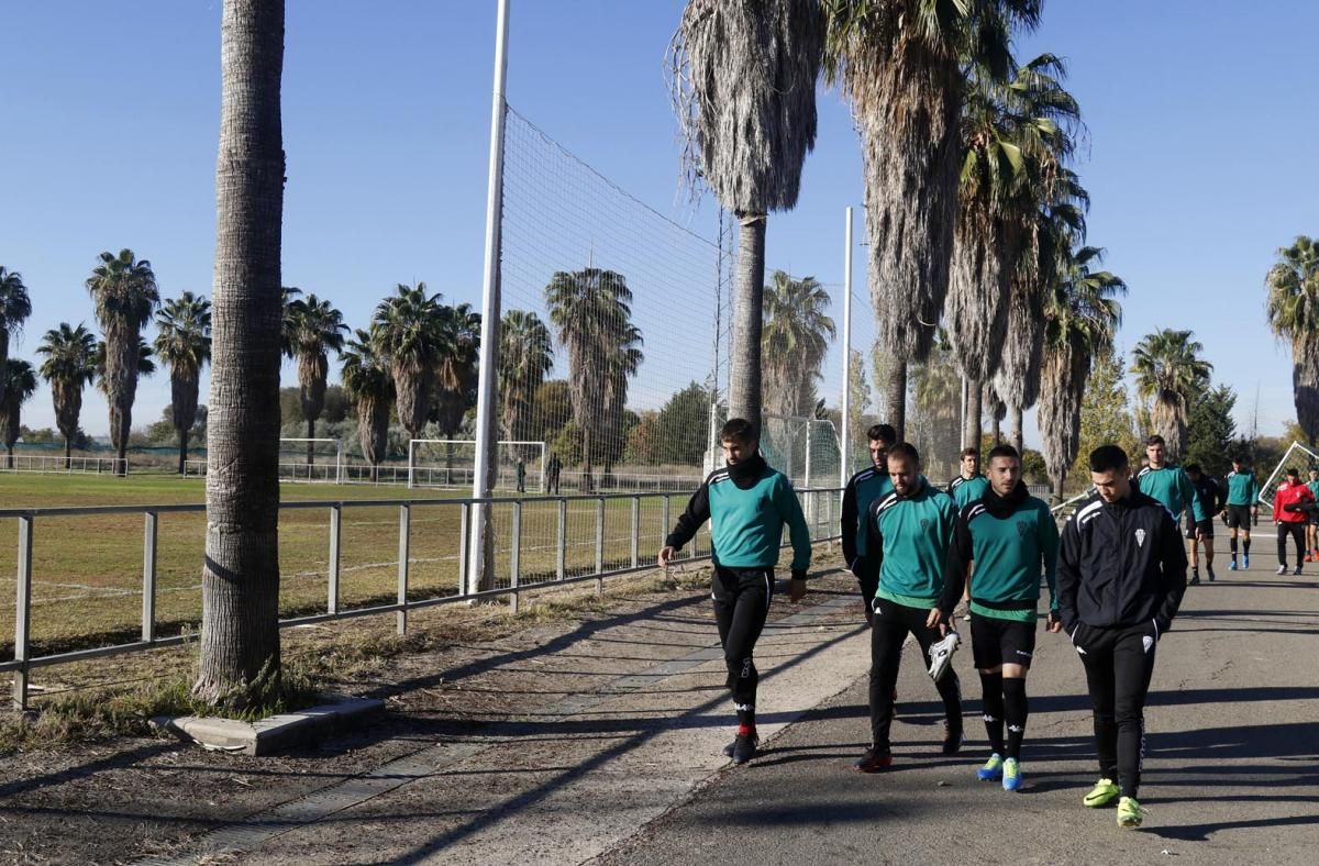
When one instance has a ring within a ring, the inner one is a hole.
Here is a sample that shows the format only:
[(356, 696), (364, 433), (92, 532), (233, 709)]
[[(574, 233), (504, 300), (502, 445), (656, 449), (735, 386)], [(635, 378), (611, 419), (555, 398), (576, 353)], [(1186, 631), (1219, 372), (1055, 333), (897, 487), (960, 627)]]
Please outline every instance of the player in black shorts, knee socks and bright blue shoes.
[[(1049, 583), (1049, 631), (1058, 621), (1058, 523), (1049, 506), (1021, 481), (1021, 455), (1012, 446), (989, 452), (989, 489), (958, 513), (944, 593), (962, 594), (971, 564), (971, 652), (980, 671), (985, 732), (992, 749), (976, 771), (981, 782), (1002, 779), (1004, 791), (1021, 787), (1021, 741), (1026, 732), (1026, 672), (1035, 651), (1039, 575)], [(1004, 722), (1008, 738), (1004, 741)]]

